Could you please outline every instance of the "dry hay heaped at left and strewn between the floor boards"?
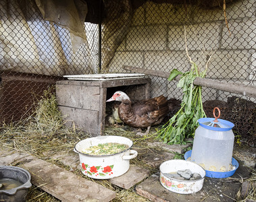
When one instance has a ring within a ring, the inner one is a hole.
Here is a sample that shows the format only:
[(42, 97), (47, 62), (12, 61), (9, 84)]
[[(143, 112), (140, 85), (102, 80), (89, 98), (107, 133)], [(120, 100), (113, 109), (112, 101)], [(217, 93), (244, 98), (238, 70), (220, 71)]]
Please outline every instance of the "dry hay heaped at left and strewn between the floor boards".
[[(68, 153), (74, 148), (74, 145), (78, 141), (91, 137), (91, 135), (75, 127), (70, 129), (65, 126), (65, 121), (63, 121), (61, 113), (57, 108), (55, 95), (50, 92), (52, 92), (52, 90), (47, 90), (44, 92), (44, 96), (36, 98), (36, 106), (32, 115), (15, 123), (8, 125), (3, 123), (3, 125), (1, 125), (0, 144), (7, 149), (31, 154), (32, 156), (36, 156), (37, 158), (51, 162), (70, 171), (70, 167), (63, 165), (63, 163), (58, 160), (51, 159), (51, 156), (65, 151)], [(140, 145), (141, 147), (145, 146), (145, 137), (138, 137), (133, 131), (126, 130), (125, 127), (109, 127), (105, 130), (105, 135), (125, 136), (132, 139), (136, 145)], [(153, 140), (152, 137), (148, 137), (148, 139)], [(144, 164), (141, 164), (140, 161), (135, 159), (131, 164), (140, 164), (140, 166), (145, 167)], [(12, 164), (11, 166), (17, 165)], [(80, 170), (74, 170), (74, 173), (87, 178)], [(88, 180), (93, 179), (88, 178)], [(113, 202), (147, 201), (147, 199), (136, 195), (134, 187), (123, 190), (114, 186), (108, 180), (93, 181), (112, 191), (116, 191), (117, 196), (113, 199)], [(59, 200), (45, 191), (42, 191), (40, 187), (32, 186), (29, 189), (26, 201), (54, 202)]]

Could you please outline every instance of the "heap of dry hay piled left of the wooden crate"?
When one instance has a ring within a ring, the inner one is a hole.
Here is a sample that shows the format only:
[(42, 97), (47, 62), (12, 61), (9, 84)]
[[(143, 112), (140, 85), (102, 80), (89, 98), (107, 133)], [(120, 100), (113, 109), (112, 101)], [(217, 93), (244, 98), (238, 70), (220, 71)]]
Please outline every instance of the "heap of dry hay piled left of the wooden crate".
[(65, 127), (55, 96), (48, 91), (45, 91), (32, 115), (16, 123), (3, 124), (0, 130), (3, 147), (24, 151), (44, 160), (47, 152), (70, 149), (88, 136)]

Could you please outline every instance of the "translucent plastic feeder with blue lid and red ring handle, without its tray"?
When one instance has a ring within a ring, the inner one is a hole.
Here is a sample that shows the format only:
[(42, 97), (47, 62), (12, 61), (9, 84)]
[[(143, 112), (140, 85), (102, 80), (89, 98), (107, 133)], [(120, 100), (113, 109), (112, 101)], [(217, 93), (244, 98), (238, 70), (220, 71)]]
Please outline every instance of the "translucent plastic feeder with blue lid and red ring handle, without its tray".
[[(215, 116), (215, 109), (219, 111)], [(220, 117), (220, 109), (213, 109), (215, 118), (199, 119), (199, 127), (195, 131), (195, 139), (191, 154), (191, 162), (195, 162), (213, 172), (228, 172), (232, 169), (232, 153), (234, 147), (234, 124)]]

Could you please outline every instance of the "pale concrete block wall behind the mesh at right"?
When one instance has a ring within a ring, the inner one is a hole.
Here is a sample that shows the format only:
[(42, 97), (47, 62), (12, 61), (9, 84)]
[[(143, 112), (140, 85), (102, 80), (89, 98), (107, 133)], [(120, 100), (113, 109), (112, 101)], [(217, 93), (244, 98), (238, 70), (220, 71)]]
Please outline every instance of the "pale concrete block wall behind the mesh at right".
[[(165, 72), (174, 68), (189, 71), (185, 26), (188, 53), (200, 69), (205, 69), (206, 57), (212, 55), (206, 77), (255, 85), (255, 9), (255, 0), (227, 5), (227, 28), (220, 8), (188, 6), (185, 10), (184, 6), (147, 2), (134, 11), (132, 27), (111, 61), (110, 71), (126, 72), (122, 70), (123, 65)], [(151, 79), (151, 97), (165, 94), (182, 98), (176, 81), (161, 77)], [(226, 100), (229, 94), (203, 88), (204, 100)]]

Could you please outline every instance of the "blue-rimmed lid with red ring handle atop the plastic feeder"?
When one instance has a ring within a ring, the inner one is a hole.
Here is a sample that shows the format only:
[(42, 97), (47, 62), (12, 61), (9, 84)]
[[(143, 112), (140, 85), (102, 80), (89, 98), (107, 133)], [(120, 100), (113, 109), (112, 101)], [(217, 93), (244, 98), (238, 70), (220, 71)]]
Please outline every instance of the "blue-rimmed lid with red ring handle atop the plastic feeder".
[[(217, 109), (219, 112), (218, 116), (215, 116), (215, 109)], [(204, 127), (205, 129), (209, 129), (212, 131), (229, 131), (234, 127), (234, 124), (230, 121), (218, 119), (220, 117), (220, 108), (215, 107), (213, 109), (213, 116), (214, 118), (199, 119), (199, 125), (201, 125), (201, 127)]]

